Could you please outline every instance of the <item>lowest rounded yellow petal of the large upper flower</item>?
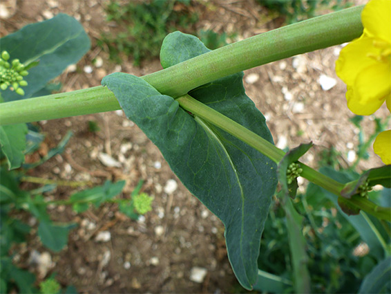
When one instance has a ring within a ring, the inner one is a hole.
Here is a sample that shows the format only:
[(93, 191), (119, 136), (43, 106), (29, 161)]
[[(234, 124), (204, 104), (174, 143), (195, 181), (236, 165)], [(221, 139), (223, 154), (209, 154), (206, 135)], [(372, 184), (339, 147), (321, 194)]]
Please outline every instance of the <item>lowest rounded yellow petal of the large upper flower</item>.
[(353, 86), (347, 86), (347, 107), (359, 116), (369, 116), (390, 93), (391, 66), (378, 62), (361, 71)]

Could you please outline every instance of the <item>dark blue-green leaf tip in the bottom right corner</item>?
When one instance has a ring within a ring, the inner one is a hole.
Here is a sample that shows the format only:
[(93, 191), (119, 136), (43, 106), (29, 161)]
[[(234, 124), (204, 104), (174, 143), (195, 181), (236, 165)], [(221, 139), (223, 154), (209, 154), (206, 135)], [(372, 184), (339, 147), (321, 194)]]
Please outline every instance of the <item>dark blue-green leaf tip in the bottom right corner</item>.
[(391, 290), (391, 257), (377, 264), (365, 276), (359, 293), (390, 293)]

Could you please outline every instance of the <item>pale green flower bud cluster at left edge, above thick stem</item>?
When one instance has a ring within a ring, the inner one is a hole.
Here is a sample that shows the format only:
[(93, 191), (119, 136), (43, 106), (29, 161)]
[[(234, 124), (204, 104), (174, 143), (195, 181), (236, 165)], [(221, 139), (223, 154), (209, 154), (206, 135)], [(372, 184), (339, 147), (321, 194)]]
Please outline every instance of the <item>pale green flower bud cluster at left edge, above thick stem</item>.
[(25, 66), (21, 64), (19, 59), (13, 59), (12, 62), (8, 62), (10, 54), (7, 51), (3, 51), (0, 55), (0, 89), (5, 91), (8, 86), (12, 87), (19, 95), (24, 95), (21, 86), (27, 86), (27, 82), (23, 80), (23, 77), (28, 75)]

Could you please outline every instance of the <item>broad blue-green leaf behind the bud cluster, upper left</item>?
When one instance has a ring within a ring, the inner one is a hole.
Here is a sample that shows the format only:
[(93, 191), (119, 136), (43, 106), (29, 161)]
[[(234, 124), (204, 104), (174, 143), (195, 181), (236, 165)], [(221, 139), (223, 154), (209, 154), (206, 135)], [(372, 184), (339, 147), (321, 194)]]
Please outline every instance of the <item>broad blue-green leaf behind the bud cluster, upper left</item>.
[(79, 22), (68, 15), (59, 14), (0, 39), (1, 50), (7, 50), (11, 59), (23, 64), (39, 60), (28, 70), (23, 87), (25, 95), (17, 95), (9, 89), (3, 92), (5, 101), (29, 98), (60, 75), (69, 64), (75, 64), (89, 50), (90, 39)]

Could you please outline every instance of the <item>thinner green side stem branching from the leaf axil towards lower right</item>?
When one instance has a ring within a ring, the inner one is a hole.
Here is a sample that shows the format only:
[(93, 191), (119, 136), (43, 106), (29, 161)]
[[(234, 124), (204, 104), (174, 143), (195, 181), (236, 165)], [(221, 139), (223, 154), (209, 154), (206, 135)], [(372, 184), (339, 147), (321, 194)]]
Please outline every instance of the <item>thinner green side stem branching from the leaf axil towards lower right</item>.
[[(264, 138), (258, 136), (253, 131), (250, 131), (246, 127), (243, 127), (238, 122), (231, 120), (231, 118), (227, 118), (222, 113), (211, 109), (207, 105), (202, 102), (192, 98), (190, 95), (183, 95), (178, 98), (176, 101), (180, 104), (180, 106), (193, 113), (196, 116), (210, 122), (212, 125), (216, 125), (220, 129), (227, 131), (227, 133), (235, 136), (236, 138), (242, 140), (244, 143), (247, 143), (254, 149), (260, 151), (260, 153), (266, 155), (275, 163), (279, 163), (280, 160), (283, 159), (285, 152), (281, 149), (278, 149), (273, 144), (269, 143), (269, 141)], [(339, 183), (334, 179), (326, 176), (325, 174), (321, 174), (317, 172), (315, 169), (305, 165), (304, 163), (300, 163), (303, 172), (301, 176), (303, 178), (307, 178), (308, 181), (323, 187), (325, 190), (336, 194), (338, 197), (341, 196), (341, 190), (345, 185), (343, 183)], [(391, 209), (390, 208), (382, 208), (372, 203), (368, 199), (365, 199), (361, 196), (354, 195), (351, 199), (345, 199), (356, 208), (359, 208), (369, 214), (372, 214), (374, 217), (378, 219), (384, 219), (385, 221), (390, 221), (391, 217)]]

